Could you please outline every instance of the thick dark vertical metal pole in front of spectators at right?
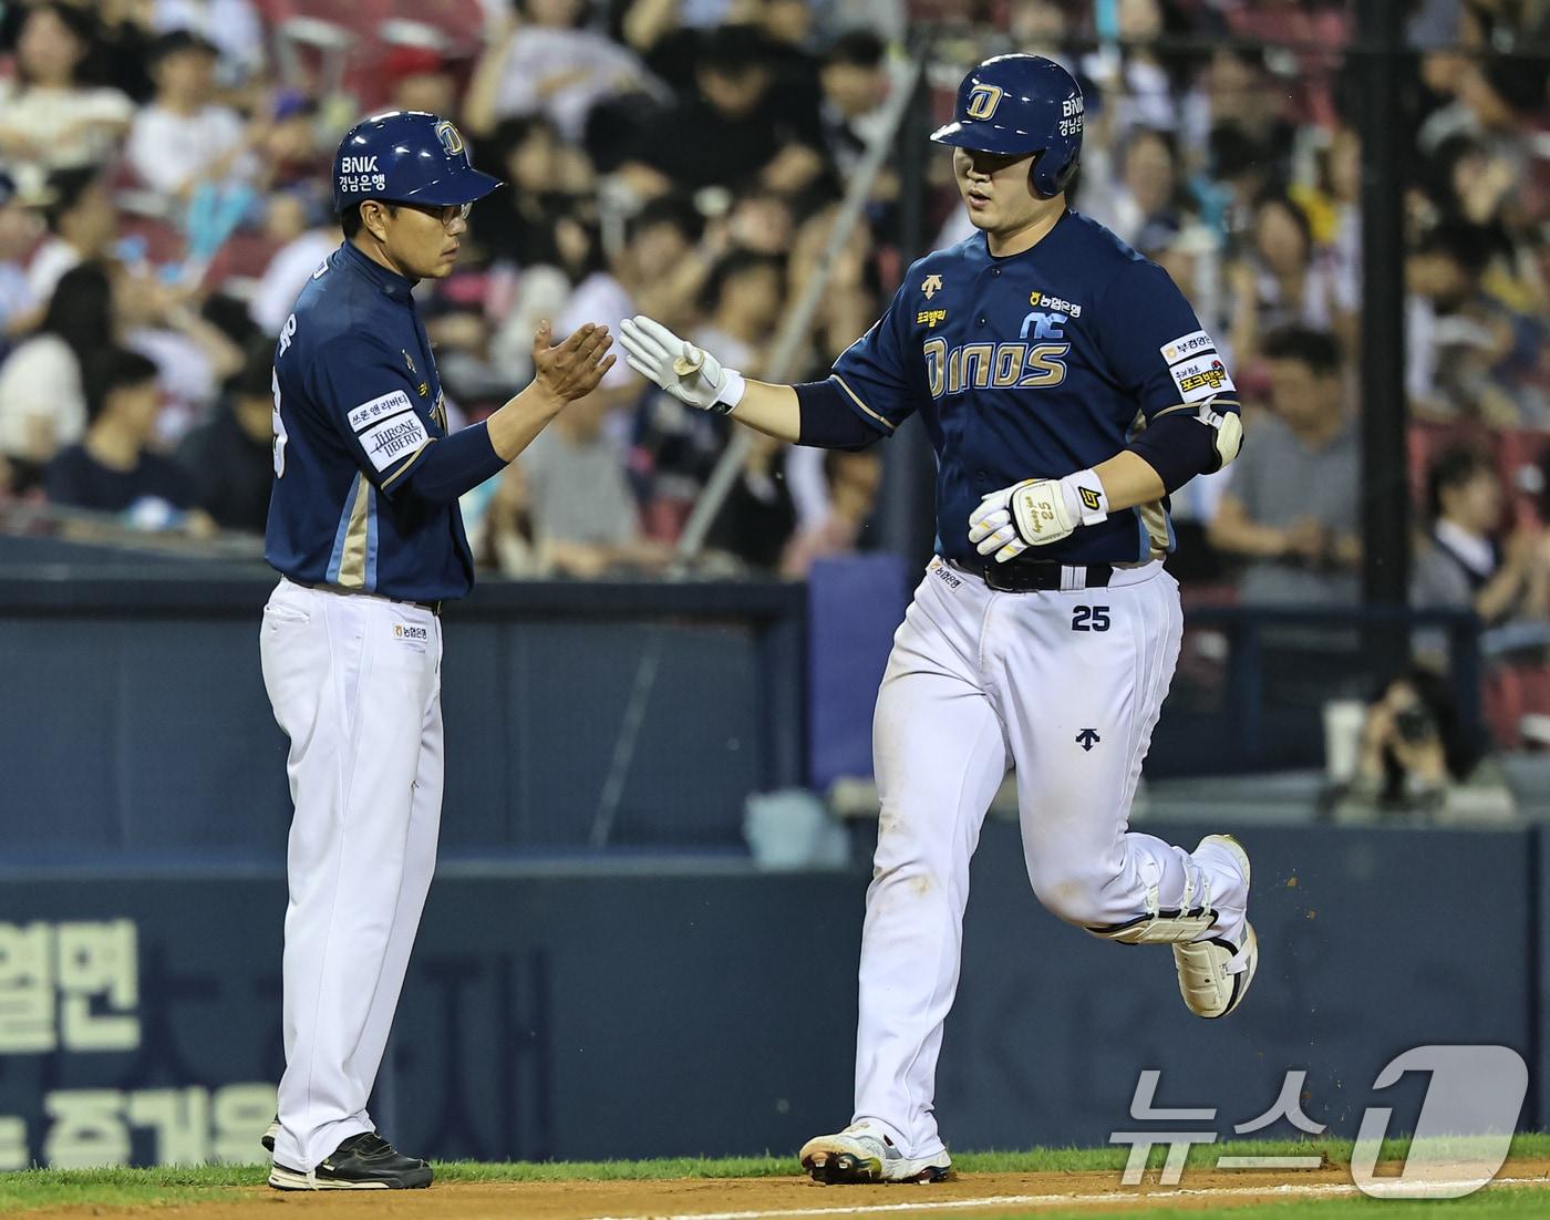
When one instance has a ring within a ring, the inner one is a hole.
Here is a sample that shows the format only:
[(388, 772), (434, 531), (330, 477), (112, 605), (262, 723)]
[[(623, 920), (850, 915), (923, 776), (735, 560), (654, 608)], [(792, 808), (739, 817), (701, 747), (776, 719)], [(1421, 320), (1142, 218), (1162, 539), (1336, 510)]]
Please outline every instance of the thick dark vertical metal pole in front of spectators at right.
[[(1361, 71), (1362, 313), (1362, 601), (1409, 601), (1410, 530), (1406, 482), (1404, 398), (1404, 147), (1400, 67), (1404, 48), (1401, 0), (1356, 5)], [(1406, 631), (1372, 632), (1380, 670), (1393, 673), (1410, 657)]]

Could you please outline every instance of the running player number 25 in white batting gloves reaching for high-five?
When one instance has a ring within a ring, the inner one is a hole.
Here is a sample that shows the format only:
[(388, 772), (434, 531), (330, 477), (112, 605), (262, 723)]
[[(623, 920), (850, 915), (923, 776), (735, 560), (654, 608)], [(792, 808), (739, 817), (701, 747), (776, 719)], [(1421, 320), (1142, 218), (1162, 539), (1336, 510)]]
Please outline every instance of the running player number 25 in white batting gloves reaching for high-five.
[(1048, 59), (970, 71), (932, 138), (953, 146), (976, 233), (911, 265), (825, 381), (752, 381), (649, 318), (622, 327), (629, 364), (691, 406), (831, 448), (919, 412), (936, 448), (938, 555), (873, 724), (882, 809), (856, 1113), (800, 1153), (825, 1183), (930, 1181), (952, 1166), (932, 1115), (936, 1056), (969, 860), (1008, 767), (1051, 912), (1172, 946), (1201, 1017), (1237, 1008), (1254, 977), (1243, 850), (1127, 831), (1180, 646), (1167, 496), (1237, 456), (1238, 405), (1167, 274), (1066, 208), (1082, 124), (1076, 81)]

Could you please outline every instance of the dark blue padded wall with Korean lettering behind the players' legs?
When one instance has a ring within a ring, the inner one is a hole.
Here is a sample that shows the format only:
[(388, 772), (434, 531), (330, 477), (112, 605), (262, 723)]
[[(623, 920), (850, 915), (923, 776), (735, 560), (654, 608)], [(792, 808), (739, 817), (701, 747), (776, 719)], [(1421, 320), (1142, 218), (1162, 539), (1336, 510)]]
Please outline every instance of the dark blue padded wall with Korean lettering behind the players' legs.
[[(1169, 825), (1192, 843), (1212, 828)], [(1231, 1018), (1190, 1017), (1162, 949), (1057, 924), (1014, 826), (986, 828), (938, 1113), (961, 1149), (1104, 1144), (1139, 1071), (1156, 1105), (1265, 1113), (1288, 1068), (1352, 1135), (1423, 1043), (1528, 1057), (1544, 1122), (1534, 831), (1266, 829), (1263, 946)], [(849, 1115), (866, 870), (450, 859), (431, 891), (374, 1115), (436, 1156), (789, 1155)], [(284, 879), (268, 867), (0, 867), (0, 1167), (254, 1160), (281, 1070)], [(1155, 1124), (1153, 1124), (1155, 1125)], [(1279, 1122), (1263, 1135), (1294, 1133)]]

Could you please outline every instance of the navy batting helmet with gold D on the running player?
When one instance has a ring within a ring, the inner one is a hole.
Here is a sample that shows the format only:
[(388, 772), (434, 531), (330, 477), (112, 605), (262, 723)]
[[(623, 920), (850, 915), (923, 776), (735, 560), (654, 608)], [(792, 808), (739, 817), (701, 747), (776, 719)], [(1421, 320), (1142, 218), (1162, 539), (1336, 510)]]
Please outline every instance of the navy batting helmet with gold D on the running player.
[(997, 56), (958, 85), (953, 121), (932, 132), (938, 144), (1000, 152), (1034, 161), (1034, 189), (1059, 195), (1082, 155), (1082, 90), (1065, 68), (1043, 56)]

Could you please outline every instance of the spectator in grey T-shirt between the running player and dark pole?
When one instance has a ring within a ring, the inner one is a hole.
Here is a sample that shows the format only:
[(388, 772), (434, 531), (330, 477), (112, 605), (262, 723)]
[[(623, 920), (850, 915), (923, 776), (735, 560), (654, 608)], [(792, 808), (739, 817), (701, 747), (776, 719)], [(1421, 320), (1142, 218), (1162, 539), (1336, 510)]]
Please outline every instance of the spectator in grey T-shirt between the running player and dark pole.
[(1265, 338), (1271, 415), (1256, 415), (1207, 536), (1245, 561), (1246, 603), (1350, 606), (1361, 558), (1361, 445), (1335, 336), (1290, 326)]

